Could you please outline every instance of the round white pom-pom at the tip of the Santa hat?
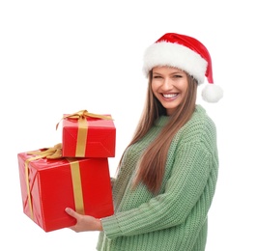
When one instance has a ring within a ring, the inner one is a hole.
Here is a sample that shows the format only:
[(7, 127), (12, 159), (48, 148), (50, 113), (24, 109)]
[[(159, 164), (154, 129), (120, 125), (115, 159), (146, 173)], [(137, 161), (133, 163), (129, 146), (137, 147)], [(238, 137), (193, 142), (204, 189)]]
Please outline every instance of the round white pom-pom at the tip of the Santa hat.
[(202, 97), (205, 101), (214, 103), (223, 97), (223, 90), (215, 84), (207, 84), (202, 91)]

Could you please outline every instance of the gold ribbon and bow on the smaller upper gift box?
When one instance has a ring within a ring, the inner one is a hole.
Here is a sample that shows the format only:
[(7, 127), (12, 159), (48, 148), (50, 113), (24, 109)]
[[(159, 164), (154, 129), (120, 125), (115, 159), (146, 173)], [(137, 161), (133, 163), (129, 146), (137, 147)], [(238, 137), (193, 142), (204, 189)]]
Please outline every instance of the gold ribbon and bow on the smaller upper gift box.
[[(97, 118), (101, 120), (113, 120), (111, 116), (100, 115), (95, 113), (89, 113), (87, 110), (81, 110), (70, 115), (64, 116), (63, 119), (71, 118), (76, 119), (78, 121), (78, 132), (77, 132), (77, 142), (76, 142), (76, 149), (75, 149), (75, 156), (76, 157), (83, 157), (86, 151), (86, 144), (87, 142), (87, 131), (88, 131), (88, 123), (86, 118)], [(56, 125), (56, 129), (58, 128), (60, 122)]]

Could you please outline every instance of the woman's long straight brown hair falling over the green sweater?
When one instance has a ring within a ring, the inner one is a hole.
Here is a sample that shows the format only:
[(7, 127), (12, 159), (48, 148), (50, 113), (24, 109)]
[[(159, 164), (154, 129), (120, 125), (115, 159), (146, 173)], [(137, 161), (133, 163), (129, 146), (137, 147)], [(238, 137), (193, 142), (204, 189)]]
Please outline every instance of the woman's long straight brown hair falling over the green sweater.
[[(188, 88), (185, 94), (185, 99), (172, 115), (172, 119), (169, 123), (163, 127), (158, 137), (156, 137), (141, 156), (133, 187), (138, 185), (139, 182), (143, 182), (148, 189), (155, 194), (160, 189), (170, 144), (175, 134), (190, 119), (195, 109), (197, 81), (190, 75), (186, 75)], [(128, 147), (143, 138), (161, 115), (166, 115), (166, 109), (161, 105), (152, 92), (152, 77), (153, 74), (151, 70), (149, 73), (145, 107)]]

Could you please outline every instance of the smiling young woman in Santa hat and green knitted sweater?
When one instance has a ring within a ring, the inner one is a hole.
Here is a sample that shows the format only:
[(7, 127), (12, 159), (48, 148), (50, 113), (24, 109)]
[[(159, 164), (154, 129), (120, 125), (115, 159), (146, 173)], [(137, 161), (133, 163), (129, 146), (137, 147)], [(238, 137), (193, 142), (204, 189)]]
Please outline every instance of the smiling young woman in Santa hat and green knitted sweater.
[(75, 232), (100, 231), (99, 251), (203, 251), (218, 172), (216, 129), (196, 104), (215, 102), (210, 54), (199, 41), (168, 33), (145, 53), (145, 109), (113, 179), (115, 213), (96, 219), (66, 209)]

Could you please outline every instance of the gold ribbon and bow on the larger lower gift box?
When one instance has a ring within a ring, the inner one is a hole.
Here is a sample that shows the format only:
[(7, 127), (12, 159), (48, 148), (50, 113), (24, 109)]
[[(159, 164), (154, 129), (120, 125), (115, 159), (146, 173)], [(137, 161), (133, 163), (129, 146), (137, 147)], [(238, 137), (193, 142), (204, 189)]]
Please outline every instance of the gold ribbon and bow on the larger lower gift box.
[[(59, 143), (55, 145), (53, 148), (43, 149), (43, 151), (34, 151), (28, 152), (28, 154), (34, 154), (36, 156), (30, 157), (25, 160), (25, 179), (26, 179), (26, 187), (27, 187), (27, 194), (28, 194), (28, 205), (30, 209), (31, 219), (34, 219), (34, 212), (32, 206), (32, 199), (30, 193), (30, 186), (29, 186), (29, 162), (46, 157), (47, 159), (58, 159), (63, 158), (62, 156), (62, 144)], [(74, 205), (75, 210), (77, 212), (83, 213), (84, 206), (83, 206), (83, 196), (82, 196), (82, 184), (81, 184), (81, 177), (80, 177), (80, 169), (79, 169), (79, 161), (73, 161), (71, 158), (67, 158), (71, 165), (71, 180), (72, 180), (72, 187), (73, 187), (73, 198), (74, 198)]]

